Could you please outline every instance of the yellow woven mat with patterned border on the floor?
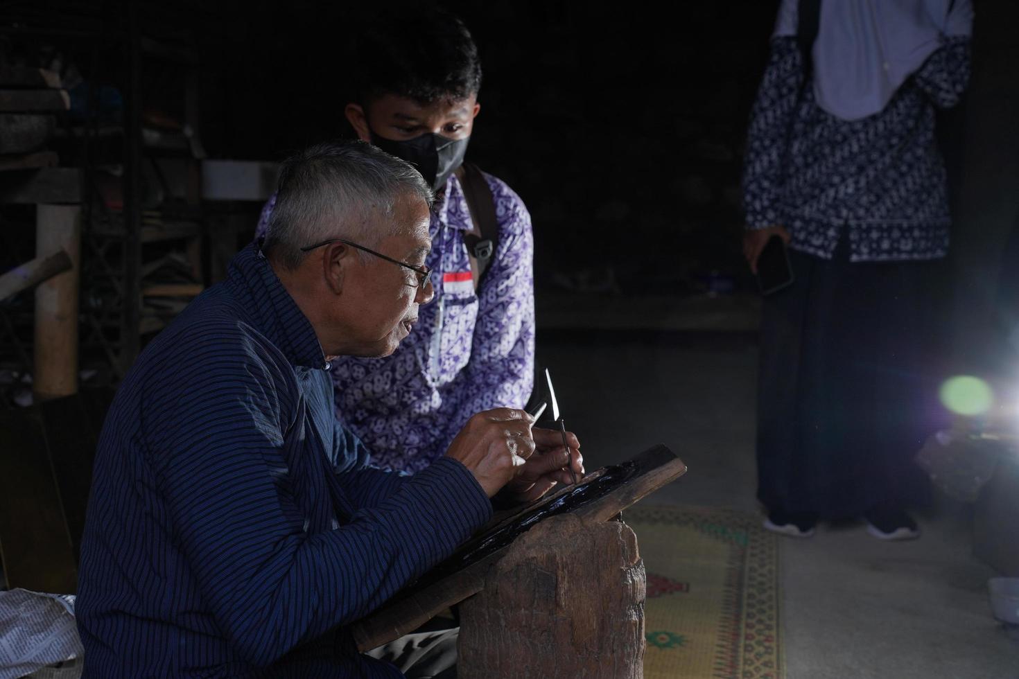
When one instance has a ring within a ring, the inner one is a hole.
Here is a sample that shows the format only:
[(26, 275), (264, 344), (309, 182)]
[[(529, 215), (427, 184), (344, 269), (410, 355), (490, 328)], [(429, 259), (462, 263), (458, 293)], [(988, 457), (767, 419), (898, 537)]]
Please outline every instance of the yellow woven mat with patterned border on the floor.
[(783, 679), (779, 541), (730, 509), (623, 513), (647, 570), (645, 679)]

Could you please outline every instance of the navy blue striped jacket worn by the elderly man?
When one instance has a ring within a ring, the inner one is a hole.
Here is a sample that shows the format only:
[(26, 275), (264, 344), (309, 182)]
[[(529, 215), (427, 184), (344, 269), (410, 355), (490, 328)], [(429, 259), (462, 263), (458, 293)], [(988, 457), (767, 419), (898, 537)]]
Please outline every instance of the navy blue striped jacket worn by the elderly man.
[(82, 542), (85, 677), (399, 677), (350, 623), (491, 515), (468, 469), (369, 465), (308, 319), (253, 244), (142, 352)]

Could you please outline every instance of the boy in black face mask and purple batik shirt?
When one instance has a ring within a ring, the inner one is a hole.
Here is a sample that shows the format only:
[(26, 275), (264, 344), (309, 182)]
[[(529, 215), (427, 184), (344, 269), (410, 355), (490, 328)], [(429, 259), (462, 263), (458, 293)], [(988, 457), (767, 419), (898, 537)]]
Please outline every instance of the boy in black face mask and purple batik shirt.
[[(413, 472), (441, 456), (473, 413), (520, 408), (530, 396), (531, 218), (504, 182), (464, 165), (481, 109), (478, 50), (464, 23), (444, 10), (416, 7), (353, 33), (347, 72), (357, 82), (347, 121), (360, 138), (417, 167), (436, 192), (426, 260), (435, 300), (421, 307), (391, 356), (334, 362), (336, 409), (376, 464)], [(472, 215), (486, 209), (494, 210), (494, 238), (486, 237), (484, 218)], [(259, 235), (271, 210), (272, 201)]]

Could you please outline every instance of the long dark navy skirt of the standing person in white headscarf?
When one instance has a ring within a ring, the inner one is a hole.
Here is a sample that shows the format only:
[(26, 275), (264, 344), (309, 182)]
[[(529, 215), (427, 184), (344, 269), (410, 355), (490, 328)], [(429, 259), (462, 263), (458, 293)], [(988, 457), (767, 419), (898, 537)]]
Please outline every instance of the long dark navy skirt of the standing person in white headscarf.
[(763, 301), (758, 499), (859, 516), (927, 500), (913, 457), (943, 423), (931, 323), (935, 262), (791, 251), (795, 283)]

